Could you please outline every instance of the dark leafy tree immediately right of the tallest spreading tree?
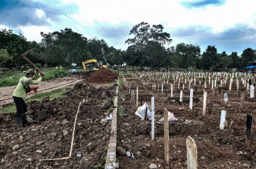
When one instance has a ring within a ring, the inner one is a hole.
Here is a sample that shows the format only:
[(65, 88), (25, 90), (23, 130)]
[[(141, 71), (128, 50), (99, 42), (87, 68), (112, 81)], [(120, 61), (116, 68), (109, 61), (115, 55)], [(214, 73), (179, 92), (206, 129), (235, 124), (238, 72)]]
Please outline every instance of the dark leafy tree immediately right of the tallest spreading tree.
[(176, 45), (175, 54), (180, 58), (178, 62), (179, 67), (186, 68), (187, 71), (190, 66), (195, 66), (196, 58), (200, 56), (200, 53), (201, 49), (197, 45), (185, 43), (179, 43)]

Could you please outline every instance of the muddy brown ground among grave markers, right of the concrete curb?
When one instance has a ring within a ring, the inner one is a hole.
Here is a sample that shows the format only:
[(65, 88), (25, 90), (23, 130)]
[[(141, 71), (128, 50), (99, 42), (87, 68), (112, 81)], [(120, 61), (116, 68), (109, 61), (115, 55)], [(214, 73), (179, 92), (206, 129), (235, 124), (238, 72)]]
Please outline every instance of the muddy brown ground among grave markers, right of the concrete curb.
[[(141, 80), (126, 77), (128, 84), (131, 83), (131, 90), (135, 91), (138, 87), (138, 98), (143, 96), (143, 103), (146, 101), (151, 107), (151, 97), (155, 98), (155, 141), (151, 139), (151, 121), (141, 120), (135, 115), (137, 110), (135, 103), (131, 103), (129, 90), (124, 85), (121, 86), (120, 105), (124, 109), (124, 115), (118, 116), (118, 146), (126, 151), (133, 153), (136, 160), (127, 156), (119, 156), (121, 169), (148, 169), (150, 164), (156, 164), (158, 169), (185, 169), (187, 168), (186, 138), (191, 136), (197, 146), (198, 151), (198, 169), (246, 169), (256, 168), (256, 135), (255, 127), (252, 129), (250, 146), (245, 145), (247, 114), (255, 114), (256, 99), (250, 98), (246, 94), (244, 109), (239, 109), (240, 98), (237, 92), (228, 94), (229, 101), (223, 102), (223, 95), (229, 90), (228, 84), (219, 89), (215, 88), (215, 97), (212, 99), (211, 85), (206, 89), (206, 115), (202, 116), (203, 89), (197, 80), (197, 93), (193, 95), (193, 108), (189, 108), (190, 92), (188, 83), (185, 84), (183, 93), (183, 104), (180, 105), (180, 89), (175, 84), (173, 97), (170, 93), (170, 85), (164, 85), (164, 93), (161, 92), (161, 83), (159, 93), (152, 90), (152, 80), (150, 85), (143, 85)], [(147, 82), (148, 78), (146, 78)], [(174, 83), (173, 80), (169, 81)], [(184, 81), (183, 81), (184, 82)], [(202, 82), (202, 80), (201, 80)], [(233, 84), (232, 91), (236, 91), (236, 85)], [(209, 87), (210, 86), (210, 87)], [(217, 82), (217, 86), (219, 86)], [(166, 97), (165, 88), (168, 88)], [(195, 91), (195, 86), (191, 85)], [(240, 82), (241, 91), (246, 88)], [(174, 113), (178, 118), (175, 122), (169, 122), (169, 148), (170, 148), (170, 166), (165, 162), (165, 143), (164, 143), (164, 124), (158, 121), (163, 118), (164, 108)], [(226, 110), (226, 120), (228, 127), (224, 130), (219, 129), (221, 110)], [(229, 129), (231, 120), (234, 120)], [(255, 123), (255, 118), (253, 120)]]

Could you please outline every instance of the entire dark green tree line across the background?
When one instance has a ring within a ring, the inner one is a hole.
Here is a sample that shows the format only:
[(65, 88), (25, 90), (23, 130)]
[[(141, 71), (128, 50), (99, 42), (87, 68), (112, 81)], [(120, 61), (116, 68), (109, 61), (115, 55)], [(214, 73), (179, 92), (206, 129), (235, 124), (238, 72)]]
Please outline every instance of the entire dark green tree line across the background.
[(32, 49), (26, 54), (38, 67), (71, 66), (76, 63), (82, 66), (82, 61), (97, 59), (118, 66), (126, 63), (141, 69), (150, 67), (152, 70), (166, 68), (199, 68), (207, 70), (227, 70), (227, 68), (245, 68), (249, 61), (255, 61), (256, 54), (251, 48), (243, 51), (239, 57), (237, 52), (228, 55), (225, 51), (218, 53), (216, 47), (208, 46), (201, 53), (199, 45), (179, 43), (165, 48), (172, 39), (164, 32), (162, 25), (148, 25), (142, 22), (135, 25), (125, 43), (127, 50), (109, 47), (103, 39), (97, 37), (87, 39), (72, 29), (40, 33), (41, 42), (27, 41), (22, 34), (13, 34), (11, 30), (0, 30), (0, 67), (21, 68), (27, 64), (20, 54)]

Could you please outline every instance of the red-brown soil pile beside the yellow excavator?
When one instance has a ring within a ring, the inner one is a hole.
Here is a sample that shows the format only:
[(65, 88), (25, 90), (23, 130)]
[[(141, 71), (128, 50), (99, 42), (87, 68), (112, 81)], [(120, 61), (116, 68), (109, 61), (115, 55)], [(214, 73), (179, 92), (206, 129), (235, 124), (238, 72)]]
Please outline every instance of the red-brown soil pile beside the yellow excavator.
[(92, 84), (106, 84), (115, 82), (116, 79), (118, 79), (117, 72), (111, 72), (106, 68), (100, 68), (99, 70), (90, 74), (90, 76), (87, 78), (87, 82)]

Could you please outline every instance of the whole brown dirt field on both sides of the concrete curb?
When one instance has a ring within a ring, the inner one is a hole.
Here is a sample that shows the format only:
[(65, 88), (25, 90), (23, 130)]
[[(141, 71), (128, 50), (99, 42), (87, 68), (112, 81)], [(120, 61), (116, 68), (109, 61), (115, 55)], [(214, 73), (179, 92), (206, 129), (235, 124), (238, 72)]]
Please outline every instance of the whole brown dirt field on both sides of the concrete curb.
[[(111, 125), (111, 121), (105, 119), (110, 115), (110, 110), (105, 110), (103, 105), (113, 98), (116, 86), (96, 89), (87, 83), (87, 76), (84, 75), (84, 79), (75, 84), (73, 89), (67, 90), (64, 98), (30, 102), (27, 114), (42, 123), (30, 124), (26, 131), (16, 131), (15, 114), (0, 115), (0, 168), (103, 169)], [(155, 141), (151, 139), (151, 121), (141, 120), (135, 115), (136, 99), (135, 103), (130, 102), (129, 90), (123, 84), (119, 88), (119, 109), (123, 109), (123, 114), (118, 114), (119, 147), (116, 159), (119, 169), (149, 169), (152, 163), (158, 169), (185, 169), (188, 136), (194, 139), (197, 146), (198, 169), (256, 168), (255, 127), (252, 129), (250, 146), (245, 144), (247, 114), (255, 114), (255, 98), (249, 98), (249, 94), (246, 94), (244, 109), (241, 110), (237, 92), (228, 94), (227, 104), (223, 102), (228, 85), (221, 88), (222, 95), (216, 88), (214, 99), (211, 87), (207, 85), (206, 115), (202, 116), (203, 85), (200, 86), (198, 80), (192, 110), (189, 108), (188, 83), (184, 85), (183, 104), (180, 105), (182, 85), (178, 89), (175, 84), (174, 96), (171, 97), (169, 84), (165, 84), (164, 89), (168, 86), (166, 97), (165, 92), (162, 94), (159, 90), (158, 93), (157, 86), (156, 90), (152, 90), (153, 80), (150, 85), (143, 85), (141, 79), (131, 76), (127, 80), (135, 95), (138, 87), (139, 98), (143, 96), (143, 104), (147, 101), (149, 108), (151, 97), (155, 97)], [(173, 84), (173, 80), (169, 80), (169, 83)], [(191, 88), (195, 86), (191, 85)], [(246, 90), (241, 82), (240, 89)], [(232, 91), (235, 90), (234, 85)], [(69, 156), (73, 122), (80, 102), (74, 131), (73, 159), (41, 161)], [(164, 117), (164, 108), (174, 112), (174, 117), (178, 118), (175, 122), (169, 122), (170, 166), (165, 162), (164, 123), (159, 121)], [(228, 127), (224, 130), (219, 129), (221, 110), (227, 111)], [(231, 120), (234, 122), (229, 129)], [(125, 154), (127, 151), (135, 159), (128, 157)], [(76, 156), (77, 152), (81, 152), (81, 157)]]

